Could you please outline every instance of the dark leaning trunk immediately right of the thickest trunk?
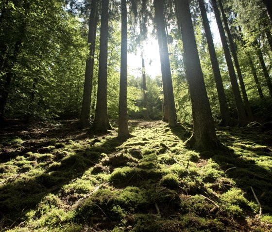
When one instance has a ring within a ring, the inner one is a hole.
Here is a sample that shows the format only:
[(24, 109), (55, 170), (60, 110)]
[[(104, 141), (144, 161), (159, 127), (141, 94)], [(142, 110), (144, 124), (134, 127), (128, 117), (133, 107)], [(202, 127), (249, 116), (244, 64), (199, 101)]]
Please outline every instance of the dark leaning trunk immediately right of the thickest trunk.
[(207, 44), (208, 44), (208, 48), (209, 48), (210, 59), (211, 59), (211, 63), (212, 63), (214, 79), (215, 79), (215, 83), (216, 83), (216, 89), (217, 89), (218, 98), (219, 98), (220, 113), (221, 113), (221, 118), (222, 118), (220, 124), (229, 126), (229, 125), (232, 125), (233, 122), (231, 120), (230, 112), (228, 109), (228, 104), (227, 104), (226, 95), (224, 92), (223, 82), (222, 82), (222, 78), (221, 78), (219, 64), (218, 64), (217, 57), (216, 57), (216, 52), (215, 52), (215, 48), (214, 48), (214, 44), (213, 44), (212, 33), (211, 33), (209, 20), (208, 20), (207, 13), (206, 13), (204, 0), (198, 0), (198, 2), (200, 5), (200, 11), (201, 11), (201, 15), (202, 15), (204, 30), (205, 30)]

